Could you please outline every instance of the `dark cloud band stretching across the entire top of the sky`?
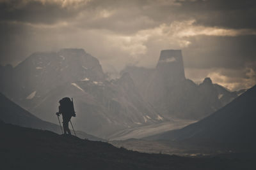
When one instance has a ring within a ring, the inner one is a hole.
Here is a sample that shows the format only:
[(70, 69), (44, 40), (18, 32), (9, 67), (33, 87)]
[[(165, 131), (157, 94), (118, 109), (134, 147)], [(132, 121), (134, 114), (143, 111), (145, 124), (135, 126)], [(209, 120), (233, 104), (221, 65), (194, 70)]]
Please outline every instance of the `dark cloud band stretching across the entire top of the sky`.
[[(63, 6), (60, 2), (0, 1), (0, 19), (41, 24), (67, 21), (75, 22), (84, 29), (109, 29), (128, 33), (163, 23), (170, 24), (174, 20), (191, 19), (195, 19), (196, 24), (208, 26), (236, 29), (256, 27), (256, 3), (253, 0), (94, 0), (88, 3), (78, 1), (76, 8)], [(102, 11), (113, 13), (109, 17), (97, 17)], [(76, 20), (79, 15), (81, 17)]]

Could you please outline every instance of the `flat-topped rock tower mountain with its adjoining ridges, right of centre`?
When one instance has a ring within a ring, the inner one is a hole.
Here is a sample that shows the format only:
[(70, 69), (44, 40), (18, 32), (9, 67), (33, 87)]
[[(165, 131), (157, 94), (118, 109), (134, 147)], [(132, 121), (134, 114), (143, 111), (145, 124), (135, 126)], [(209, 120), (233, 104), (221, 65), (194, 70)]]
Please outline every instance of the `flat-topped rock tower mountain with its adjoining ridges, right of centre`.
[[(196, 85), (186, 79), (181, 50), (161, 51), (155, 69), (127, 67), (145, 101), (167, 118), (199, 120), (237, 97), (210, 78)], [(143, 76), (147, 73), (147, 76)]]

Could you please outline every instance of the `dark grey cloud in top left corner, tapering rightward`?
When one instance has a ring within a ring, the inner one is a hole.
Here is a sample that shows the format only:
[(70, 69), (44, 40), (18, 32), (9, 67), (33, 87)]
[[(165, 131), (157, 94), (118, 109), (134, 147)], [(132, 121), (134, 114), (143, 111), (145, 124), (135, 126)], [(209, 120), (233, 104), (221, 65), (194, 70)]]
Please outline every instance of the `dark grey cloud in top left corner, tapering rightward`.
[(0, 20), (54, 24), (77, 15), (79, 10), (63, 8), (59, 3), (42, 1), (0, 1)]

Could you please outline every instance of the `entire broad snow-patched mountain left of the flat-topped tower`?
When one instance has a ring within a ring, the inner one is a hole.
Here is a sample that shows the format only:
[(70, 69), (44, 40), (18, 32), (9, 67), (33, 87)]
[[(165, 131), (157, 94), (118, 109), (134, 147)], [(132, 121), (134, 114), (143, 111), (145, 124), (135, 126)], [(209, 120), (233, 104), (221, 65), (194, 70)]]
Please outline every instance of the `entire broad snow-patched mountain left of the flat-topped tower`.
[(167, 120), (142, 99), (129, 74), (106, 80), (99, 60), (83, 49), (33, 53), (2, 70), (4, 95), (48, 122), (58, 123), (58, 101), (66, 96), (74, 98), (76, 128), (102, 138)]

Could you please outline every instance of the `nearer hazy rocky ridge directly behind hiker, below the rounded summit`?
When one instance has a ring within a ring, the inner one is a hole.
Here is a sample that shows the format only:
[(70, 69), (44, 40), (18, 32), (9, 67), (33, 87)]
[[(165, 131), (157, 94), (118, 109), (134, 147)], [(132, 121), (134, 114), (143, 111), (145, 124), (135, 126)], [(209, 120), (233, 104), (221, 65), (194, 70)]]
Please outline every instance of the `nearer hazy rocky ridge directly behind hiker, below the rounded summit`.
[(157, 124), (166, 120), (150, 104), (143, 101), (129, 74), (115, 81), (75, 81), (52, 89), (40, 97), (31, 112), (46, 120), (56, 120), (61, 97), (74, 97), (77, 118), (74, 124), (102, 138), (130, 127)]

